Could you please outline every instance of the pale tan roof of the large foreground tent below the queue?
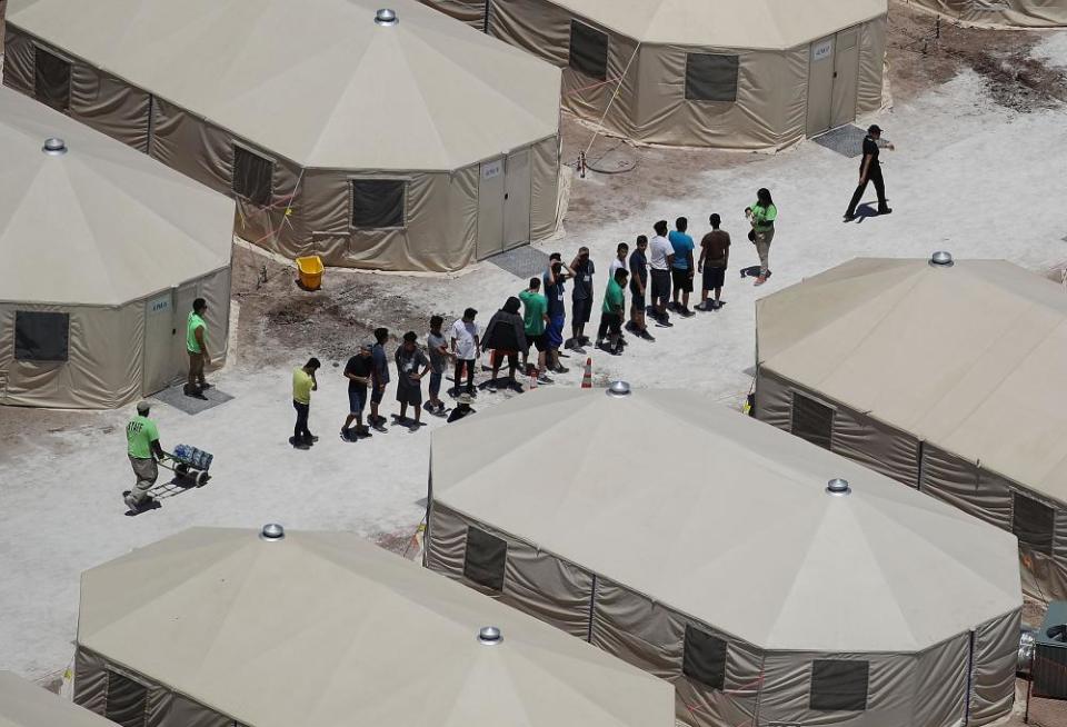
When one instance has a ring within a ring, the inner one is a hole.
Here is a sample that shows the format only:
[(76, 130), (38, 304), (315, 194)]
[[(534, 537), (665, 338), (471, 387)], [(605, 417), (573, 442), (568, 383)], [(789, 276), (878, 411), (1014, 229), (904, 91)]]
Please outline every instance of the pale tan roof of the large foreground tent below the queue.
[(433, 432), (432, 497), (765, 649), (916, 651), (1021, 604), (1010, 534), (691, 391), (511, 399)]

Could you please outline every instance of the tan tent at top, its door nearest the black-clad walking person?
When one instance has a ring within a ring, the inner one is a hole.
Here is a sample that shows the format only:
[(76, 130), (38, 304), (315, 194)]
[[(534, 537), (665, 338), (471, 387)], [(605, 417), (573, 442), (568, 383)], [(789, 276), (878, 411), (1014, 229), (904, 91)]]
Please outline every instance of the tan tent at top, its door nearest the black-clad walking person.
[(636, 141), (781, 149), (881, 107), (886, 0), (483, 7), (490, 34), (565, 69), (565, 109)]

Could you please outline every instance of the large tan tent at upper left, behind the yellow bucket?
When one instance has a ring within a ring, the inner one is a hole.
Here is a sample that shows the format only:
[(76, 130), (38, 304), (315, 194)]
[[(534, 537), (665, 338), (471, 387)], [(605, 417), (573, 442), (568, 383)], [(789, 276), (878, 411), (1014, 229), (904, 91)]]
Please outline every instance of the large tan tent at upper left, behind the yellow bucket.
[(558, 69), (415, 0), (11, 0), (3, 82), (288, 257), (456, 270), (559, 213)]

